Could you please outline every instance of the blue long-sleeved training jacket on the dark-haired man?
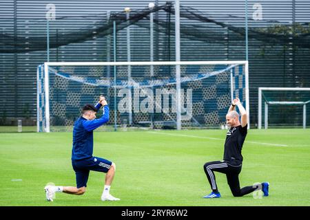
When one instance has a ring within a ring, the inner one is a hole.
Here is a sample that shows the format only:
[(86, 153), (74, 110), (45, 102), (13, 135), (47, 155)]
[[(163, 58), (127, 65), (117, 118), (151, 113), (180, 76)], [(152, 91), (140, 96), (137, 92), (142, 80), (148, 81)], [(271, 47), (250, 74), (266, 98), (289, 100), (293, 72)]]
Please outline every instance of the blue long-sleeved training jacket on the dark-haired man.
[[(96, 104), (96, 109), (101, 108), (101, 104)], [(103, 115), (101, 118), (87, 120), (82, 116), (74, 122), (73, 127), (73, 144), (72, 144), (72, 160), (88, 159), (92, 157), (94, 140), (94, 129), (109, 121), (109, 107), (103, 107)]]

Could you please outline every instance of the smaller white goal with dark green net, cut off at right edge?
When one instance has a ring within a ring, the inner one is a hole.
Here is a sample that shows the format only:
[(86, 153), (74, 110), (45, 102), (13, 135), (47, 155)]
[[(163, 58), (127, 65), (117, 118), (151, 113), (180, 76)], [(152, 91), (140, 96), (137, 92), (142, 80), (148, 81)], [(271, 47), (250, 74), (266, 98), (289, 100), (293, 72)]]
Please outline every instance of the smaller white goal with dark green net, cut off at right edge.
[(310, 88), (259, 87), (258, 129), (309, 126)]

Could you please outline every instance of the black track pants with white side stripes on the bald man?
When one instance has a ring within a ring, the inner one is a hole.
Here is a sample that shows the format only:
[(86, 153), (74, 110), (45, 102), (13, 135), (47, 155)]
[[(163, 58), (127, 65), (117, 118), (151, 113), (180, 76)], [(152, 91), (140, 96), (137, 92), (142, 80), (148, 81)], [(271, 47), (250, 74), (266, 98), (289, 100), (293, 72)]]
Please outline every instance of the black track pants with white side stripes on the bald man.
[(234, 197), (242, 197), (256, 190), (258, 186), (246, 186), (244, 188), (240, 188), (239, 173), (241, 172), (241, 167), (241, 164), (240, 166), (233, 166), (231, 164), (227, 164), (227, 162), (214, 161), (207, 162), (203, 166), (203, 169), (205, 170), (205, 174), (207, 175), (212, 190), (218, 190), (214, 171), (225, 173), (227, 183)]

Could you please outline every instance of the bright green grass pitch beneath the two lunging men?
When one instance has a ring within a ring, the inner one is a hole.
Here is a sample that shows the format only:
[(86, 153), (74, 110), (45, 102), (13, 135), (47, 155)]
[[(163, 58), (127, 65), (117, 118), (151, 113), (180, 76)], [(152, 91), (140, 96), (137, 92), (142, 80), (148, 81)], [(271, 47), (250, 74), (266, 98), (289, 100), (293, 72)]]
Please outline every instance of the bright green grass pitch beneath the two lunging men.
[(203, 199), (205, 162), (223, 157), (226, 131), (128, 131), (94, 133), (94, 155), (116, 163), (111, 193), (101, 201), (105, 175), (91, 172), (84, 195), (56, 194), (48, 182), (75, 186), (72, 133), (0, 133), (0, 206), (309, 206), (310, 130), (249, 130), (241, 186), (270, 182), (270, 196), (233, 197), (216, 173), (220, 199)]

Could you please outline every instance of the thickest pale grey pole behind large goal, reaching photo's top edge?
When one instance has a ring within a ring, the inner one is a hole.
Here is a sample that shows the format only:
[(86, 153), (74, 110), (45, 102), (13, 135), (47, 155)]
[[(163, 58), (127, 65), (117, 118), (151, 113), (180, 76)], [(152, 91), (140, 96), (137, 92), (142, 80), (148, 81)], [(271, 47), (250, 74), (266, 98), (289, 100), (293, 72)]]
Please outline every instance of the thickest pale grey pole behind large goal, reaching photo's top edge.
[[(180, 61), (180, 1), (174, 3), (176, 62)], [(180, 65), (176, 65), (176, 129), (181, 129)]]

